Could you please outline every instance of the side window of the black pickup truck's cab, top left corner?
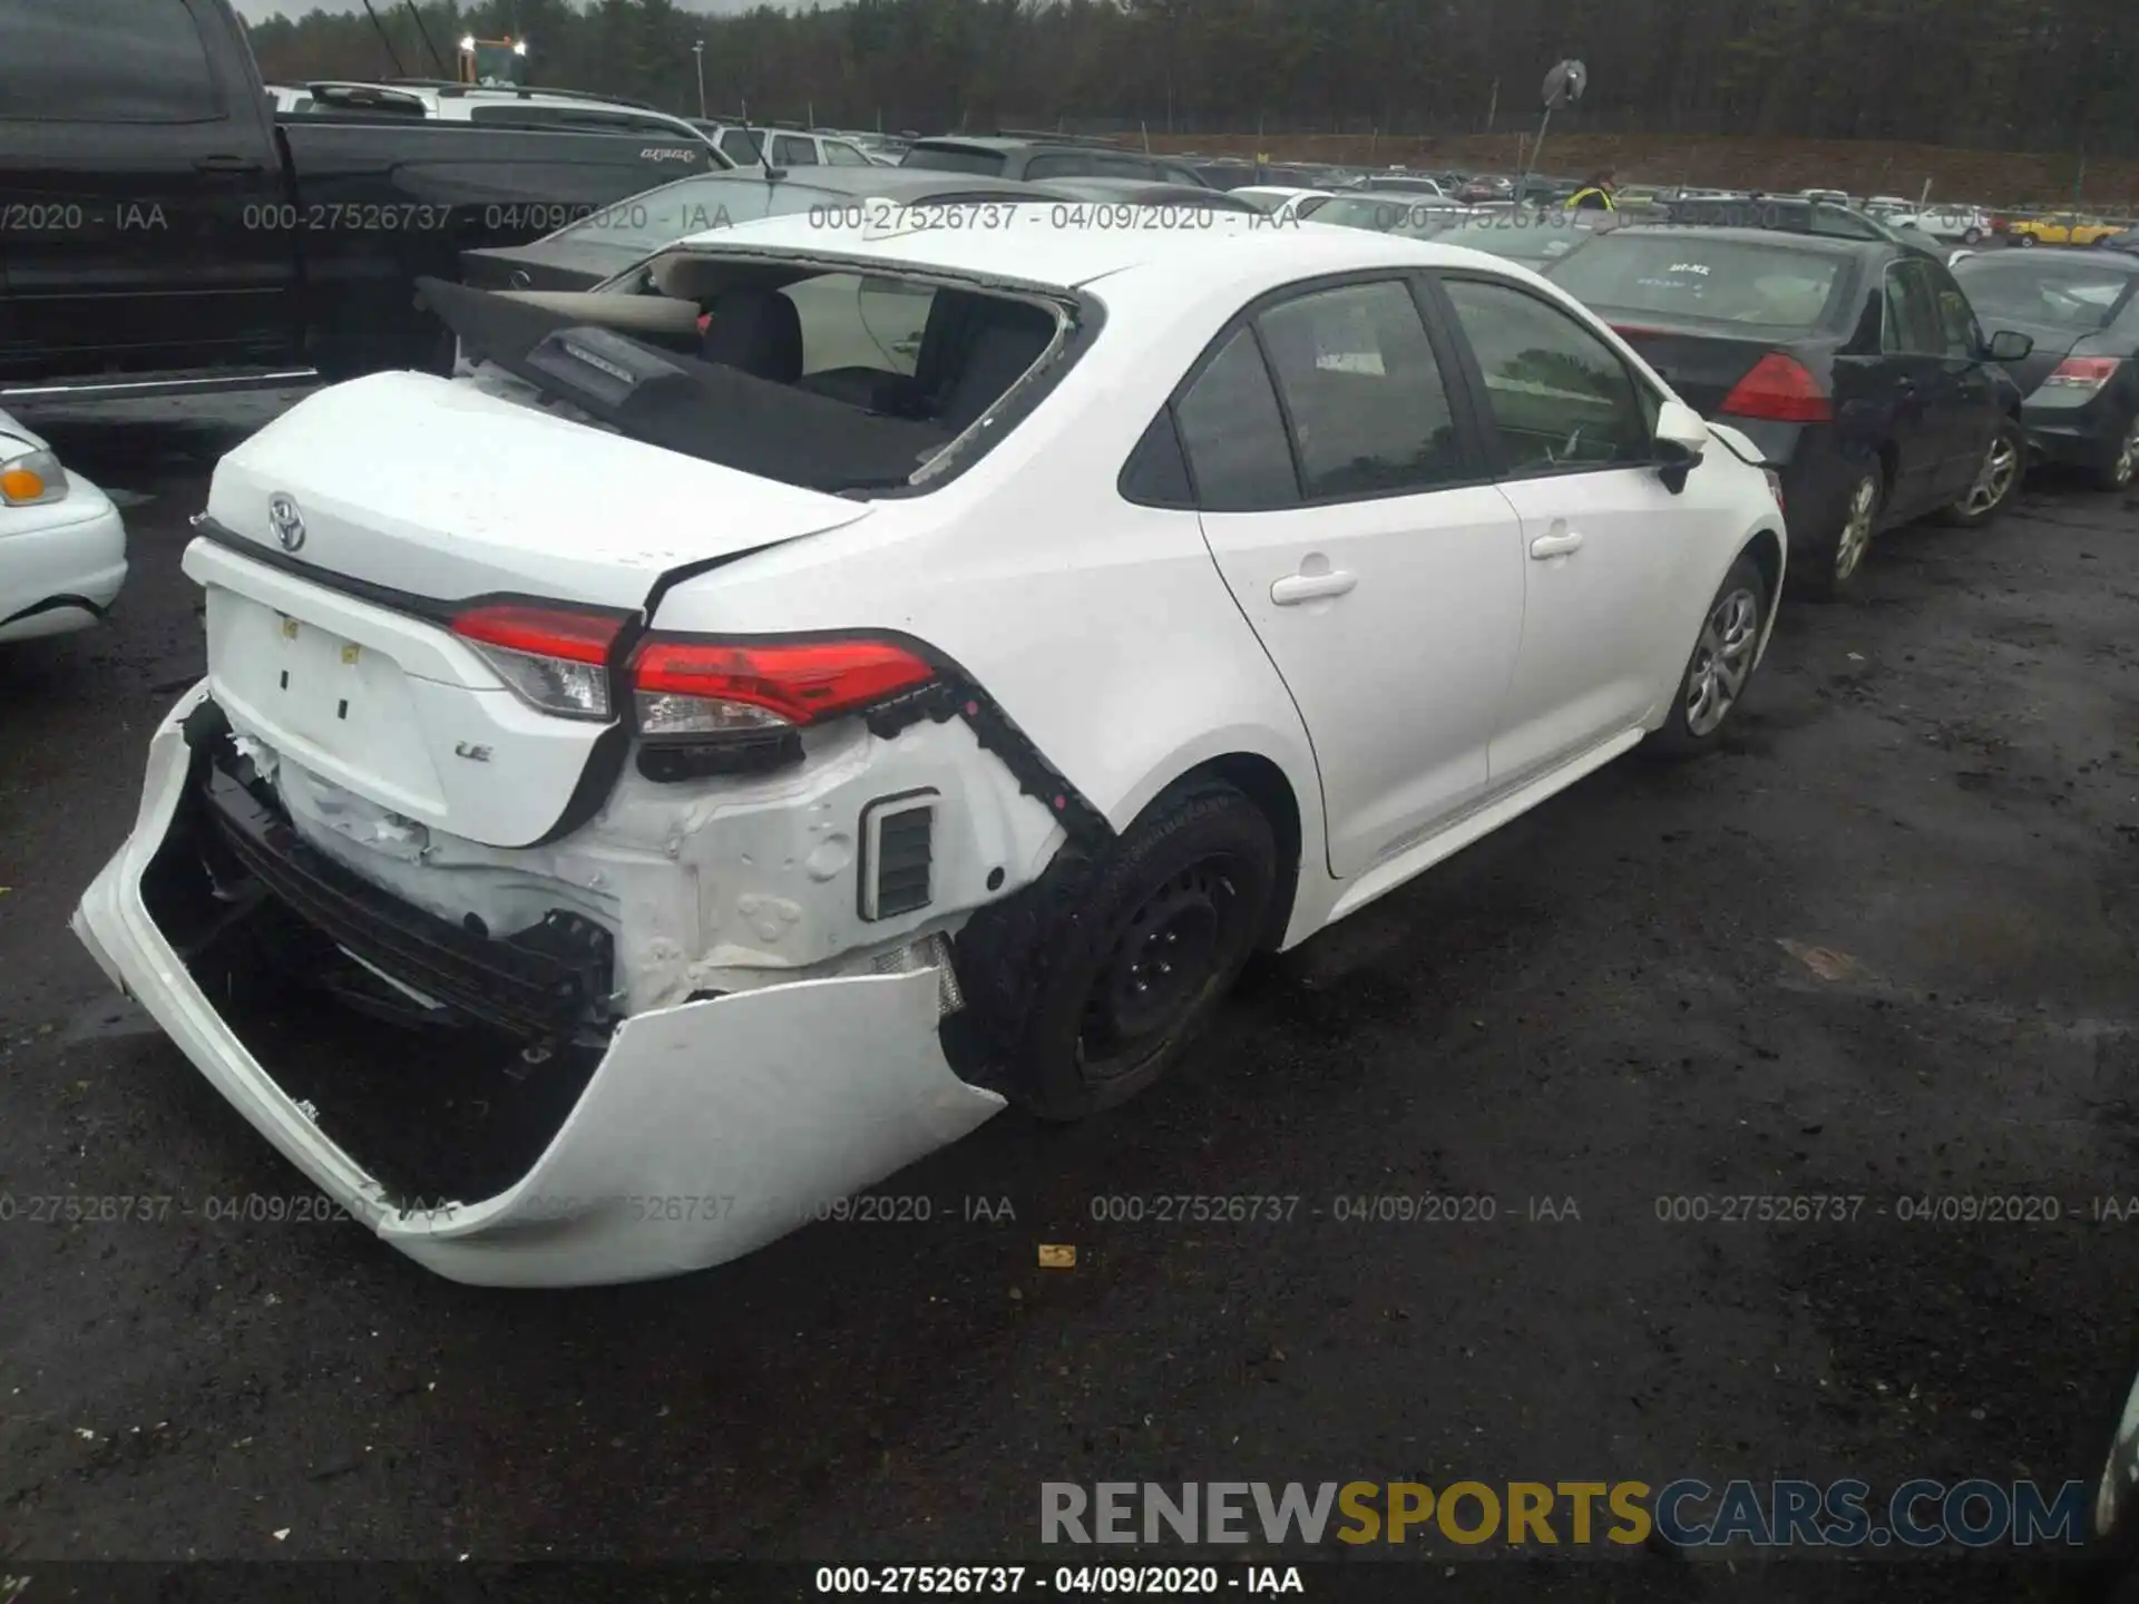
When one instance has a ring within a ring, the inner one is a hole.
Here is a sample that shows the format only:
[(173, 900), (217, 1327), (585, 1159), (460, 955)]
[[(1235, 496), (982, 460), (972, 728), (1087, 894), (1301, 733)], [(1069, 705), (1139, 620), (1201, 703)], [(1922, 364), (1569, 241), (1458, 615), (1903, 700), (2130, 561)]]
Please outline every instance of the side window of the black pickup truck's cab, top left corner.
[(222, 96), (182, 0), (6, 0), (0, 120), (220, 122)]

